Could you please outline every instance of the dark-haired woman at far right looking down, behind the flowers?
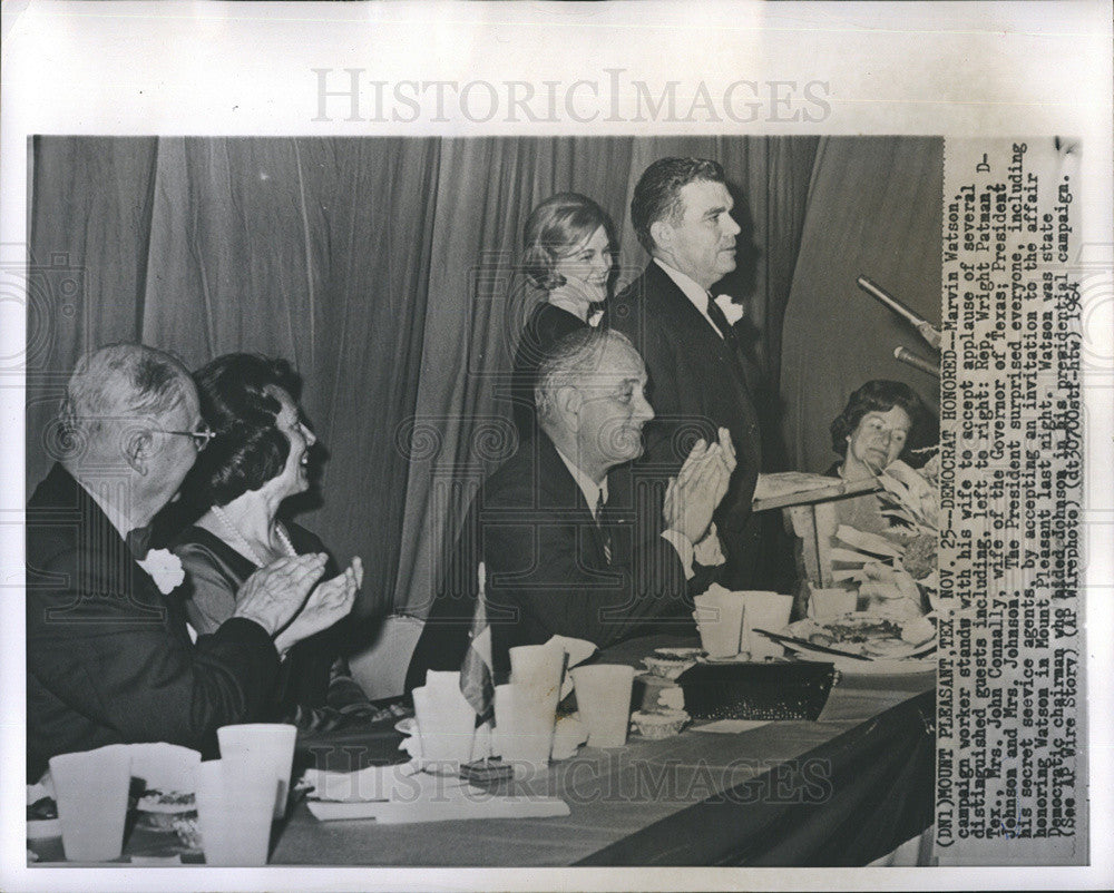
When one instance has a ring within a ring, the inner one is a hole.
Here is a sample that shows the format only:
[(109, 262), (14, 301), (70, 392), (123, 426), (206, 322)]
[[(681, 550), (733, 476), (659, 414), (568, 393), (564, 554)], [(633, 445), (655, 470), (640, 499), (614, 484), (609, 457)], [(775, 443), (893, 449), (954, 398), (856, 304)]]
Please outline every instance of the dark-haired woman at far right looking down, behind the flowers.
[[(917, 443), (930, 413), (909, 385), (887, 379), (867, 382), (851, 394), (831, 423), (832, 450), (840, 457), (828, 474), (844, 481), (876, 477), (906, 455)], [(839, 522), (868, 533), (883, 533), (890, 527), (881, 503), (872, 493), (833, 503)]]

